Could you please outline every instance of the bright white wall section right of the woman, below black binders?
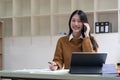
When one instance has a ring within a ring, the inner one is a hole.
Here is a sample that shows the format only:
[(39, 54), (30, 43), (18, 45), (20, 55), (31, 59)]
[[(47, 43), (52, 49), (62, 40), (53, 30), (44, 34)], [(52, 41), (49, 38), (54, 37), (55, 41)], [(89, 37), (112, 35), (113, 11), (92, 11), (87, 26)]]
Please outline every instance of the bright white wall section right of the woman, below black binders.
[(94, 35), (99, 44), (99, 52), (108, 52), (106, 63), (120, 62), (120, 40), (118, 33)]

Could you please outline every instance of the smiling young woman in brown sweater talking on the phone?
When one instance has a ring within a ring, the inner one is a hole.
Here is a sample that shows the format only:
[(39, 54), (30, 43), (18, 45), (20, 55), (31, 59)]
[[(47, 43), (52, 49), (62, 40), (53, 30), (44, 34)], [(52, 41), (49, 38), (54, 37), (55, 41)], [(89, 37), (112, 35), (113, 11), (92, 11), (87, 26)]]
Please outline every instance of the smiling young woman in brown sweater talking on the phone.
[(98, 44), (90, 35), (90, 25), (86, 14), (75, 10), (69, 19), (69, 34), (59, 38), (53, 58), (49, 65), (51, 70), (70, 68), (72, 52), (97, 52)]

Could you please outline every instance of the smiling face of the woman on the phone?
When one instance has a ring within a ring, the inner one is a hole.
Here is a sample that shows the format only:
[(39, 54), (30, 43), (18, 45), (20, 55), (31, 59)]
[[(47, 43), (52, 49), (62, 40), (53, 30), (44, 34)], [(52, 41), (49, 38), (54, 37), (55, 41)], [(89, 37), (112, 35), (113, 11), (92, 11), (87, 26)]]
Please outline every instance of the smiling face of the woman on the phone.
[(71, 19), (71, 29), (73, 33), (80, 33), (83, 23), (81, 22), (79, 15), (75, 14)]

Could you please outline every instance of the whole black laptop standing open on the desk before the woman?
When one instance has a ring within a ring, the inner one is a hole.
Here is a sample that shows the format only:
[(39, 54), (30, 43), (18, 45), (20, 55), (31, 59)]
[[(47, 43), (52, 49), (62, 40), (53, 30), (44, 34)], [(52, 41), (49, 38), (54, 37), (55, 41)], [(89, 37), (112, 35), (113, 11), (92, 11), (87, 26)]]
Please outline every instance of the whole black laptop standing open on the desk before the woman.
[(107, 53), (73, 52), (70, 63), (71, 74), (102, 74)]

